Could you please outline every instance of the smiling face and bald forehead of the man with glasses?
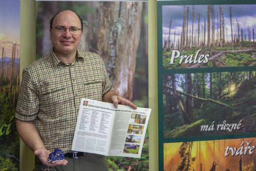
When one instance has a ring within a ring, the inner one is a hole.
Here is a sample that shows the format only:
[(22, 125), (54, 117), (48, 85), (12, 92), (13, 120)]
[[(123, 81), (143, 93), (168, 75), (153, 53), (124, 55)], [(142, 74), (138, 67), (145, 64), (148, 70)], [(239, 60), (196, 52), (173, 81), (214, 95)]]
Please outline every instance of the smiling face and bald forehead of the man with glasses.
[[(62, 11), (57, 14), (53, 20), (52, 27), (78, 28), (81, 29), (81, 23), (78, 16), (72, 11)], [(66, 29), (64, 33), (59, 33), (55, 28), (50, 29), (50, 37), (54, 47), (55, 54), (65, 56), (76, 53), (82, 37), (82, 30), (73, 34)]]

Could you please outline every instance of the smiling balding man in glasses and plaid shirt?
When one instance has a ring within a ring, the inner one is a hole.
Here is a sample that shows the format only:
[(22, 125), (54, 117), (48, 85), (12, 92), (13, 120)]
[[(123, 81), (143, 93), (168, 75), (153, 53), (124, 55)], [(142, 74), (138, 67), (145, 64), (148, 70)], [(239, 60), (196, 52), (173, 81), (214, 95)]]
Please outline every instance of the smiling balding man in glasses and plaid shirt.
[[(50, 22), (53, 52), (23, 71), (16, 126), (20, 137), (36, 155), (36, 170), (48, 166), (55, 170), (108, 170), (101, 155), (71, 151), (81, 98), (137, 108), (115, 95), (97, 54), (77, 49), (82, 29), (82, 20), (73, 11), (54, 15)], [(47, 158), (55, 148), (63, 150), (65, 160), (48, 163)]]

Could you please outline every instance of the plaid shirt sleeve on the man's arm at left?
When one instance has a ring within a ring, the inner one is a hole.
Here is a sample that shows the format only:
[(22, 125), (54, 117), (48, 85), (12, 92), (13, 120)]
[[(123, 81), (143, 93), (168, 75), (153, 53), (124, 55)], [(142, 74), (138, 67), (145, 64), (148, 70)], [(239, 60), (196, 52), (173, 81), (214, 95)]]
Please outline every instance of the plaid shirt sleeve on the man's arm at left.
[(23, 70), (20, 83), (15, 117), (23, 121), (35, 120), (38, 112), (39, 99), (33, 81), (27, 69)]

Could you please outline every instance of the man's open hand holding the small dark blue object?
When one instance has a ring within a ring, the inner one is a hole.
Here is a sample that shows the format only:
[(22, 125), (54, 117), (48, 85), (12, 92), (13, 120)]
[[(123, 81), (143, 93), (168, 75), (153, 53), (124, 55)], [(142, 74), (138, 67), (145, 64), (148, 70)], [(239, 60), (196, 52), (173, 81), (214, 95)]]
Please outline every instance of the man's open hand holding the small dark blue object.
[(36, 151), (34, 153), (39, 158), (39, 160), (42, 162), (42, 164), (44, 164), (46, 166), (48, 165), (48, 166), (54, 167), (54, 166), (58, 166), (58, 165), (67, 165), (67, 163), (68, 163), (68, 161), (66, 159), (64, 159), (61, 162), (57, 161), (55, 163), (49, 163), (47, 160), (48, 160), (48, 156), (51, 152), (45, 148), (36, 149)]

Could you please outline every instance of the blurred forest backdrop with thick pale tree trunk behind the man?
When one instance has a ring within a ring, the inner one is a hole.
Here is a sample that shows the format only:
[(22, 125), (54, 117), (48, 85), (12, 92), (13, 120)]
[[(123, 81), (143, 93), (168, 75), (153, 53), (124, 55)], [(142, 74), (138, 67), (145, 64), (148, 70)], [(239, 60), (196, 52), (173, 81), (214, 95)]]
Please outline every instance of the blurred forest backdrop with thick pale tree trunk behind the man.
[[(36, 1), (36, 57), (52, 50), (50, 18), (73, 10), (83, 19), (78, 49), (99, 54), (116, 93), (148, 107), (147, 2)], [(148, 170), (148, 131), (141, 158), (105, 157), (109, 170)]]

